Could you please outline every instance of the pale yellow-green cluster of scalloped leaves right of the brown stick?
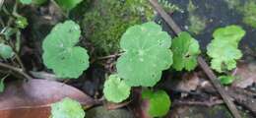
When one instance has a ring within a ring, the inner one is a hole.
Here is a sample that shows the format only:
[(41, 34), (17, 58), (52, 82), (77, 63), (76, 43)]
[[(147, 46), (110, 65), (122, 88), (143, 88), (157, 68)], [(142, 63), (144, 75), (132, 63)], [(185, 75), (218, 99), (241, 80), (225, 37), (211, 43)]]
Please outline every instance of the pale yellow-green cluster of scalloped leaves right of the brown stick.
[(238, 26), (216, 29), (214, 39), (207, 46), (207, 54), (212, 58), (211, 67), (218, 72), (232, 70), (236, 60), (242, 57), (238, 43), (245, 35), (245, 30)]

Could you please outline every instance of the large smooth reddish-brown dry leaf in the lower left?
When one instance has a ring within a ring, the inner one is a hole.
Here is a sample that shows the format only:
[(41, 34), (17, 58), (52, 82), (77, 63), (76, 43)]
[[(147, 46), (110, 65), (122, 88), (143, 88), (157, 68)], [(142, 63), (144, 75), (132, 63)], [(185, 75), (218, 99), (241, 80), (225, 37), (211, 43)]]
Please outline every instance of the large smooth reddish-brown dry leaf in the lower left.
[(30, 80), (7, 85), (0, 94), (1, 118), (48, 118), (50, 104), (70, 97), (86, 107), (93, 105), (94, 100), (79, 89), (65, 84)]

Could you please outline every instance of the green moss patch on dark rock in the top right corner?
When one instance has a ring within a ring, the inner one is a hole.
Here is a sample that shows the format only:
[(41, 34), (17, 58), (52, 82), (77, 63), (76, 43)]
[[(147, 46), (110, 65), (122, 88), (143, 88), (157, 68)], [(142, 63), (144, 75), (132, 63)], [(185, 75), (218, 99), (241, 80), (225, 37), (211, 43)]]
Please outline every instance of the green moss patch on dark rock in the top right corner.
[(247, 1), (239, 11), (243, 14), (243, 23), (256, 28), (256, 1)]

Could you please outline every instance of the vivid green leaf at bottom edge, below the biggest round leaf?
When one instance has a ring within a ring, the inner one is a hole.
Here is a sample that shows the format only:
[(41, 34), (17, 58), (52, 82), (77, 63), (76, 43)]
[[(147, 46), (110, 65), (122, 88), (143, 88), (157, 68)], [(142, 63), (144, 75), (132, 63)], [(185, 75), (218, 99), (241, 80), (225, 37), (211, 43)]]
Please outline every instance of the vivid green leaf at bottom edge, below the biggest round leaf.
[(164, 116), (170, 107), (170, 99), (168, 94), (164, 90), (151, 91), (143, 90), (143, 99), (148, 100), (149, 106), (147, 111), (152, 117)]

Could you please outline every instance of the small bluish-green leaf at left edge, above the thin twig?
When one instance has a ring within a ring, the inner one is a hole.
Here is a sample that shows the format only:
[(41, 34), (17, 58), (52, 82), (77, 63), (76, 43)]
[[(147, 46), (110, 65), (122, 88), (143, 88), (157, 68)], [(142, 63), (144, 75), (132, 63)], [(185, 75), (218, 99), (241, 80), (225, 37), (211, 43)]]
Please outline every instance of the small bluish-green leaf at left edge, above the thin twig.
[(4, 43), (0, 43), (0, 56), (3, 59), (12, 58), (14, 56), (14, 51), (13, 51), (12, 47), (10, 47), (9, 45), (6, 45)]

